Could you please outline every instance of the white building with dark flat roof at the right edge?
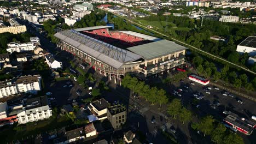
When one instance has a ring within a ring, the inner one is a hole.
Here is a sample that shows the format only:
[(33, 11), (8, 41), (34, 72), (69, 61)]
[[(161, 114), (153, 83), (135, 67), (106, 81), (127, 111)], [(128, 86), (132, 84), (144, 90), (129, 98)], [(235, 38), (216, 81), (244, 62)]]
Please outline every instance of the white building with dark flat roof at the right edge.
[(236, 47), (239, 53), (248, 53), (249, 56), (256, 56), (256, 37), (249, 36)]

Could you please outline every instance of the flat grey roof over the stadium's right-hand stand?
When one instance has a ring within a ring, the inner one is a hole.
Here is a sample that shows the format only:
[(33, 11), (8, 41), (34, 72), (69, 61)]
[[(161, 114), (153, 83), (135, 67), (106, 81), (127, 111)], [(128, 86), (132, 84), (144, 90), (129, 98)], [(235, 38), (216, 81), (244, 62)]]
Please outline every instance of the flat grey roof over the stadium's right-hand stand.
[(169, 40), (159, 40), (152, 43), (138, 45), (127, 48), (128, 50), (142, 56), (144, 59), (153, 59), (156, 57), (161, 57), (167, 53), (173, 53), (177, 51), (182, 51), (188, 49), (182, 45), (178, 45), (173, 41)]

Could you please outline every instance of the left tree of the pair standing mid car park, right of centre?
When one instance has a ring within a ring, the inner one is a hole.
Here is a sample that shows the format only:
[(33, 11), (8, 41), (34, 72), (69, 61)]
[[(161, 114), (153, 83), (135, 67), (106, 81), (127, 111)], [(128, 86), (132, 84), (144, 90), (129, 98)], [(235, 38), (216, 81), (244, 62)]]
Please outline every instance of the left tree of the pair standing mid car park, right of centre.
[(176, 118), (176, 115), (178, 115), (181, 112), (181, 109), (182, 109), (181, 100), (173, 99), (172, 102), (168, 105), (167, 112), (169, 115)]

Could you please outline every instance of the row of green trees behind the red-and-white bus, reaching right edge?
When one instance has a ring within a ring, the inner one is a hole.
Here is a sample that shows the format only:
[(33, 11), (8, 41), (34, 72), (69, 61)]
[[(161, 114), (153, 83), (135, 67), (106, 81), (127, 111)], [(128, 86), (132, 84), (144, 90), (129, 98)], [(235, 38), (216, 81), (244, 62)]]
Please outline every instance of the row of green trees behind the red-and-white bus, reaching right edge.
[(245, 87), (248, 91), (253, 91), (253, 89), (256, 88), (256, 77), (249, 82), (246, 74), (237, 74), (237, 72), (231, 70), (228, 65), (225, 65), (220, 71), (218, 71), (216, 64), (208, 62), (200, 56), (193, 58), (193, 64), (196, 67), (197, 73), (208, 79), (210, 79), (210, 77), (214, 81), (221, 79), (225, 82), (231, 83), (238, 88), (238, 90), (241, 86)]

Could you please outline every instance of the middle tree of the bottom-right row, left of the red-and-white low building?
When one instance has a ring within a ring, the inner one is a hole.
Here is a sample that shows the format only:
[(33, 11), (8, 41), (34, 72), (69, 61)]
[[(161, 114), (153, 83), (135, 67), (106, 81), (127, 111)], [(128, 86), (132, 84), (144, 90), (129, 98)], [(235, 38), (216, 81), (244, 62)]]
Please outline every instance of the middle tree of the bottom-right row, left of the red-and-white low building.
[(212, 141), (217, 144), (223, 143), (223, 138), (225, 137), (225, 131), (226, 131), (226, 127), (223, 124), (218, 123), (217, 127), (212, 131), (212, 134), (211, 134)]

